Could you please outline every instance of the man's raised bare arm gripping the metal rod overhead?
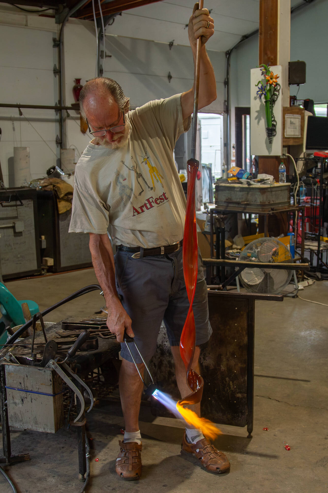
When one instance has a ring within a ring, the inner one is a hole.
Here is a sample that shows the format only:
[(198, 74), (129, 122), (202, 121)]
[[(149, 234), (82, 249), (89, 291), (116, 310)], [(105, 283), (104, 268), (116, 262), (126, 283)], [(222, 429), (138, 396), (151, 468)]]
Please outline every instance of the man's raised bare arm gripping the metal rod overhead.
[[(214, 21), (212, 17), (210, 17), (209, 11), (207, 8), (202, 8), (199, 10), (198, 3), (195, 3), (193, 15), (189, 19), (188, 36), (193, 51), (194, 65), (196, 65), (197, 38), (201, 36), (198, 109), (210, 105), (216, 100), (216, 81), (214, 70), (205, 48), (205, 43), (213, 34)], [(194, 87), (182, 94), (181, 107), (183, 119), (193, 113)]]

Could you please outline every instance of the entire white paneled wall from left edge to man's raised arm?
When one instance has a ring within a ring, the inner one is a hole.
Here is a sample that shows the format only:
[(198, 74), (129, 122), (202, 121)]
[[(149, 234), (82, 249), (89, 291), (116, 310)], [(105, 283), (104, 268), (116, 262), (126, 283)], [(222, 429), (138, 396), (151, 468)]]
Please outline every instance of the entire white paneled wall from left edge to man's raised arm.
[[(59, 78), (53, 74), (54, 64), (58, 67), (58, 49), (53, 48), (53, 38), (59, 38), (59, 27), (52, 18), (0, 6), (0, 103), (53, 106), (58, 102)], [(75, 19), (67, 22), (64, 33), (64, 105), (70, 106), (74, 102), (74, 78), (81, 78), (84, 84), (95, 76), (96, 37), (93, 22)], [(192, 87), (194, 66), (190, 48), (174, 45), (169, 50), (166, 43), (113, 36), (109, 26), (107, 34), (106, 52), (112, 57), (106, 58), (104, 75), (122, 85), (132, 107)], [(209, 54), (216, 73), (218, 99), (204, 111), (219, 113), (224, 110), (225, 54)], [(169, 71), (173, 77), (170, 83)], [(50, 166), (59, 164), (58, 115), (53, 110), (40, 109), (23, 109), (23, 114), (31, 123), (23, 116), (19, 120), (17, 108), (0, 108), (0, 161), (6, 186), (13, 183), (14, 146), (30, 147), (31, 178), (46, 176)], [(80, 132), (78, 115), (74, 111), (70, 115), (66, 122), (66, 146), (76, 147), (82, 153), (90, 139)]]

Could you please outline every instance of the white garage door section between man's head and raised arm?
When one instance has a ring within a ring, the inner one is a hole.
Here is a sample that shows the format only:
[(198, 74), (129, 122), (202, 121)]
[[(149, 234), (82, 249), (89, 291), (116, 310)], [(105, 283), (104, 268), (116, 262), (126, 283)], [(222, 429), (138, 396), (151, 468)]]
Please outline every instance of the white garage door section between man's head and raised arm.
[[(186, 33), (187, 35), (187, 33)], [(194, 82), (194, 62), (191, 49), (167, 43), (106, 35), (106, 77), (117, 80), (130, 97), (132, 107), (152, 99), (166, 98), (190, 89)], [(217, 100), (203, 109), (205, 112), (224, 111), (225, 54), (208, 51), (217, 81)], [(168, 81), (168, 72), (172, 79)]]

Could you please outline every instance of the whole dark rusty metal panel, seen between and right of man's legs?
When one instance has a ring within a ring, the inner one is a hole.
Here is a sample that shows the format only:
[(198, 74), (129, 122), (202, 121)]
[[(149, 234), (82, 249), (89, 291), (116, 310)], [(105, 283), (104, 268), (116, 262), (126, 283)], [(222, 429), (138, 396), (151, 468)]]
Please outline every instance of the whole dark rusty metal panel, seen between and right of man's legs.
[[(254, 316), (249, 317), (249, 307), (254, 307), (254, 302), (248, 295), (233, 294), (210, 292), (208, 296), (213, 334), (210, 341), (201, 346), (199, 359), (204, 379), (201, 415), (214, 423), (246, 426), (248, 331), (254, 331)], [(249, 327), (249, 322), (253, 327)], [(179, 398), (164, 326), (150, 371), (161, 390)], [(252, 384), (252, 376), (249, 384)], [(154, 398), (151, 410), (155, 416), (172, 417)]]

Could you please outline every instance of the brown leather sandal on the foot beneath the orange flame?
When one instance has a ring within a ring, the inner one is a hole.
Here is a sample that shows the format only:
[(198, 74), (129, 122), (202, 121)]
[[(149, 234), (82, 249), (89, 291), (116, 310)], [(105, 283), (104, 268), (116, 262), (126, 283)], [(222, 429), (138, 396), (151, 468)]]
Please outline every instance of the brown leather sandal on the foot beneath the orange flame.
[[(223, 452), (219, 452), (207, 438), (199, 440), (197, 443), (188, 443), (186, 431), (183, 435), (181, 448), (184, 452), (193, 454), (200, 463), (210, 472), (222, 474), (230, 471), (230, 462)], [(197, 449), (199, 449), (198, 452)]]

